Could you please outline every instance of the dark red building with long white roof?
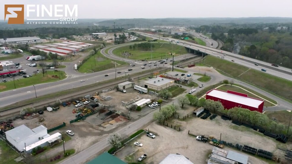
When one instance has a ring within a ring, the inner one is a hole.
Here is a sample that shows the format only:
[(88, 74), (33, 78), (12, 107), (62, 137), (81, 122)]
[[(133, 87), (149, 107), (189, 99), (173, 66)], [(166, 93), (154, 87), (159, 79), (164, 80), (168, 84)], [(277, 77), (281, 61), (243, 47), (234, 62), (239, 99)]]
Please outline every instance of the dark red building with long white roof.
[(207, 92), (206, 99), (220, 101), (225, 109), (242, 107), (262, 113), (264, 108), (264, 100), (248, 97), (247, 94), (229, 90), (212, 89)]

